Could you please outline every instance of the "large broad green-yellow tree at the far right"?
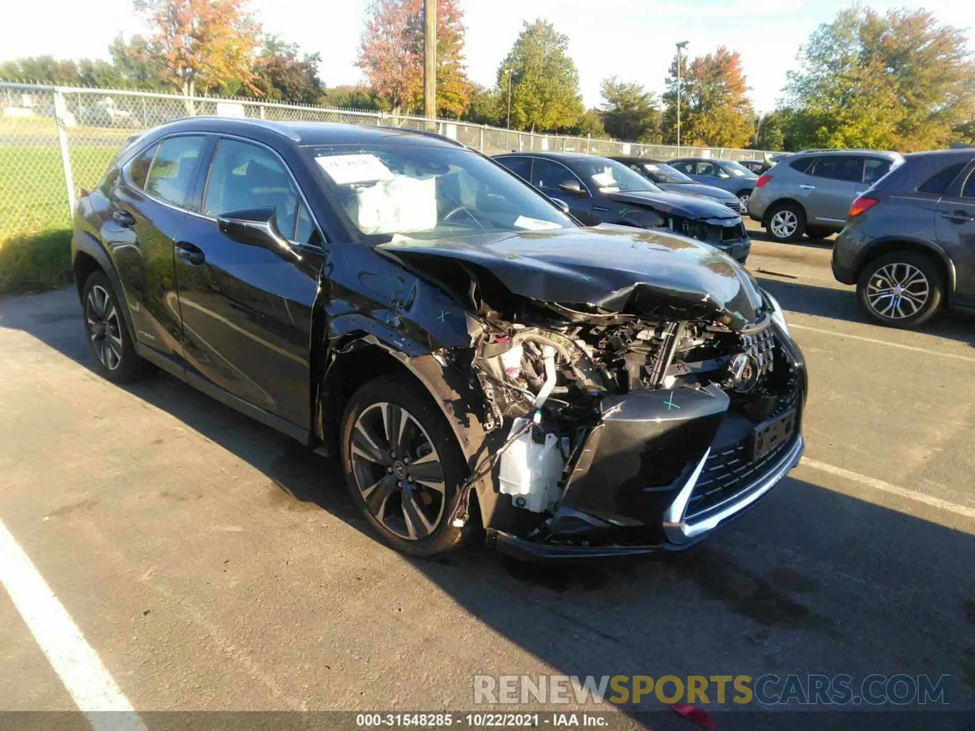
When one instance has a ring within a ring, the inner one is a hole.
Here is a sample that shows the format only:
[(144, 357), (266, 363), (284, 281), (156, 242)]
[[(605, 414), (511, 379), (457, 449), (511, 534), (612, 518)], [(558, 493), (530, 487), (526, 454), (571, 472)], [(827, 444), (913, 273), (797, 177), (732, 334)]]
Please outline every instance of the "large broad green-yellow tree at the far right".
[(927, 11), (840, 11), (813, 32), (799, 59), (787, 103), (801, 145), (944, 147), (975, 110), (965, 34)]

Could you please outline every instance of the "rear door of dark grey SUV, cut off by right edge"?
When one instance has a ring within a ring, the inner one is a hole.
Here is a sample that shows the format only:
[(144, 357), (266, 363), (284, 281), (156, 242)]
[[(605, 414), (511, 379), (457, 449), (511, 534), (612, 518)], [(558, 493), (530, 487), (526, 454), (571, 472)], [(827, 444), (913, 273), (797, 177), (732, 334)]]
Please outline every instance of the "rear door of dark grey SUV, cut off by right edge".
[(975, 161), (938, 202), (934, 220), (938, 243), (955, 262), (956, 292), (975, 297)]

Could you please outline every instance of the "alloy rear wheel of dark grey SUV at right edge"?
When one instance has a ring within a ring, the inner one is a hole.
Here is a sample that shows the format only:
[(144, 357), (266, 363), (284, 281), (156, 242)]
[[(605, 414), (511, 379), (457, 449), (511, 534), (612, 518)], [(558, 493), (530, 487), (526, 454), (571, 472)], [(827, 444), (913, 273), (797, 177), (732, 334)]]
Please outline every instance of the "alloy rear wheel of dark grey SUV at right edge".
[(893, 251), (867, 264), (856, 291), (860, 305), (880, 325), (917, 327), (941, 309), (945, 286), (927, 256)]

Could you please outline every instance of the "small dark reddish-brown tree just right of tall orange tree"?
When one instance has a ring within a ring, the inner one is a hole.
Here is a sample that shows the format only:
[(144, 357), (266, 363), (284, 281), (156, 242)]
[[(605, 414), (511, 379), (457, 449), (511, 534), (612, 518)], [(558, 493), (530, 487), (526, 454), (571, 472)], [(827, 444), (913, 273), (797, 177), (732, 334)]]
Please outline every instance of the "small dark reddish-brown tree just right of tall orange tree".
[(319, 54), (298, 54), (296, 43), (270, 35), (261, 41), (254, 60), (254, 96), (296, 104), (315, 104), (322, 95), (318, 78)]

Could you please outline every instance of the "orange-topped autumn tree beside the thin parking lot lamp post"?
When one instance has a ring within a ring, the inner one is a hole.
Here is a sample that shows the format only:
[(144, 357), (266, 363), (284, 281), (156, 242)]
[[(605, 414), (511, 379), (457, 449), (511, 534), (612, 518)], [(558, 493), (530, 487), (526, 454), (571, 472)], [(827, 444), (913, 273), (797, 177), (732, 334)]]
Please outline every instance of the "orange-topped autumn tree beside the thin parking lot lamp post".
[[(682, 58), (683, 66), (683, 58)], [(696, 146), (744, 147), (754, 130), (754, 112), (737, 53), (721, 46), (694, 58), (681, 73), (681, 139)], [(668, 141), (677, 137), (677, 61), (664, 94)], [(673, 126), (671, 126), (673, 123)]]

